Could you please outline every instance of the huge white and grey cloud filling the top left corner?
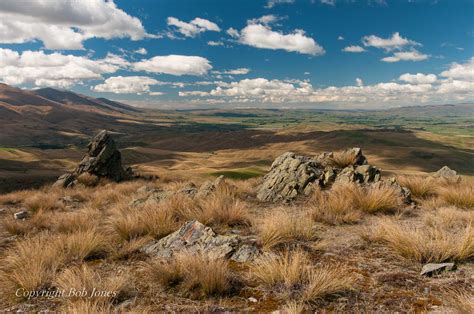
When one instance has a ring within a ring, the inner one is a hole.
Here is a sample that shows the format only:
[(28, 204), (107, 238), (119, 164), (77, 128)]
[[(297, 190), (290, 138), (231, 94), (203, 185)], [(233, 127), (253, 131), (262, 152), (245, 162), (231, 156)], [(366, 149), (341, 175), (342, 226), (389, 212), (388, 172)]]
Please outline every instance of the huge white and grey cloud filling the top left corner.
[(0, 43), (40, 40), (47, 49), (83, 49), (83, 41), (94, 37), (140, 40), (153, 35), (113, 1), (0, 1)]

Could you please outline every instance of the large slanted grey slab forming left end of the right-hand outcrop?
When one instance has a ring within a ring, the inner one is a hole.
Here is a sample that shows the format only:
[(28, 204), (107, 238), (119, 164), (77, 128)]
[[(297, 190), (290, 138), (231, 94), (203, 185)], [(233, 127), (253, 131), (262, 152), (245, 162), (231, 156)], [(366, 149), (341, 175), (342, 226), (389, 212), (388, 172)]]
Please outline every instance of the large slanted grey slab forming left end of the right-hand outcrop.
[(303, 194), (307, 186), (324, 174), (314, 160), (287, 152), (275, 159), (257, 193), (261, 201), (289, 201)]

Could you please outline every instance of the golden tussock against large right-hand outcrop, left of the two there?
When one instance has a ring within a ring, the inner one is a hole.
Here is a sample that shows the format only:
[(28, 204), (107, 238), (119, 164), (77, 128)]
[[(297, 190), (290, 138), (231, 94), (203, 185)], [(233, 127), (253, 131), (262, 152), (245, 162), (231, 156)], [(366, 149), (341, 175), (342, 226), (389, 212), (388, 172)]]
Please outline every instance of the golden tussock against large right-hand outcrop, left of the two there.
[(354, 204), (355, 188), (353, 184), (341, 184), (328, 192), (315, 191), (310, 203), (312, 218), (330, 225), (360, 221), (362, 212)]

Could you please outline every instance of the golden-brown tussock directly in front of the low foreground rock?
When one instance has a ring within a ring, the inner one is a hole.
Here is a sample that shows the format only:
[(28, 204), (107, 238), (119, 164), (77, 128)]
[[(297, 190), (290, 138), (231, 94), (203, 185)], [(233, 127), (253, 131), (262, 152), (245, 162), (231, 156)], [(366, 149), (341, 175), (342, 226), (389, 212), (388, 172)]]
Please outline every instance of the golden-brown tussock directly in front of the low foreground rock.
[(143, 269), (152, 282), (164, 289), (177, 288), (194, 299), (225, 295), (231, 287), (231, 272), (223, 259), (182, 254), (170, 261), (147, 263)]

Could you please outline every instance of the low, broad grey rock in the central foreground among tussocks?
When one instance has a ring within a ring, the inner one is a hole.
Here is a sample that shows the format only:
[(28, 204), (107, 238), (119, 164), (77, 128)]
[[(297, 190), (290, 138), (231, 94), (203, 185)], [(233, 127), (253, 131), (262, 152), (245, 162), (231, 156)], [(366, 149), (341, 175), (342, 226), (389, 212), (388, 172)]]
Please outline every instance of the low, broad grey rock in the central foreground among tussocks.
[(211, 259), (229, 258), (239, 262), (252, 260), (258, 249), (242, 243), (237, 235), (218, 235), (199, 221), (189, 221), (179, 230), (142, 248), (146, 254), (170, 258), (174, 254), (204, 254)]

